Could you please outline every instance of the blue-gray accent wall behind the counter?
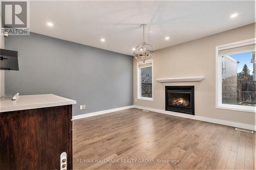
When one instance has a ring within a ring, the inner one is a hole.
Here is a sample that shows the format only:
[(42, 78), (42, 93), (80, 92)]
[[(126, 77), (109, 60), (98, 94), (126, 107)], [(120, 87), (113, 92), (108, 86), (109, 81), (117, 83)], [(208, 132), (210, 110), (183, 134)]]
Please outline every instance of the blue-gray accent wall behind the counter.
[(35, 33), (6, 37), (5, 48), (18, 51), (19, 63), (5, 71), (6, 94), (73, 99), (73, 115), (133, 105), (132, 56)]

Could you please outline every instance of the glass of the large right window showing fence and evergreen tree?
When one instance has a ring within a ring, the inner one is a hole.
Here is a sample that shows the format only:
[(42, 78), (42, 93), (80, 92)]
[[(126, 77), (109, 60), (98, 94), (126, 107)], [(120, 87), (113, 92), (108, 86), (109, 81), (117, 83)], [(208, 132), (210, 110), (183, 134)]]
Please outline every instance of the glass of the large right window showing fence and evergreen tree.
[(221, 52), (222, 104), (256, 106), (256, 58), (248, 51), (251, 47)]

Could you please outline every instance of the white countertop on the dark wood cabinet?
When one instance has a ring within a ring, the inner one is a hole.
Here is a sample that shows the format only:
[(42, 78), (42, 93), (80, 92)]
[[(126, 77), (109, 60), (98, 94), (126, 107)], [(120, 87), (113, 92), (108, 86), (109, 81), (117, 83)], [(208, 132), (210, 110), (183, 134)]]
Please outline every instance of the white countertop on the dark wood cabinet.
[(76, 101), (62, 98), (54, 94), (19, 95), (16, 101), (12, 98), (3, 97), (0, 99), (0, 112), (15, 110), (27, 110), (44, 107), (73, 105)]

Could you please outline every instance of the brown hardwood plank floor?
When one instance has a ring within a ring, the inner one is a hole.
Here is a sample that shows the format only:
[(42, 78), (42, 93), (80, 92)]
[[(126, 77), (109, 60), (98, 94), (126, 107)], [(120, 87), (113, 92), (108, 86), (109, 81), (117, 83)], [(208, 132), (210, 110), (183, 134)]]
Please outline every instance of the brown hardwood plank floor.
[(255, 139), (233, 127), (133, 108), (74, 120), (73, 169), (253, 169)]

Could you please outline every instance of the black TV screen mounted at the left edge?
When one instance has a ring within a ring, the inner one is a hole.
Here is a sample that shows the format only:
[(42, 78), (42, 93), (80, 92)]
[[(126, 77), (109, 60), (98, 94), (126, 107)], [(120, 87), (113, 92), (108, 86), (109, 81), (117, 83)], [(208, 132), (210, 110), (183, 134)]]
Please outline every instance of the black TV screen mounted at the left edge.
[(0, 70), (18, 70), (18, 52), (0, 49)]

